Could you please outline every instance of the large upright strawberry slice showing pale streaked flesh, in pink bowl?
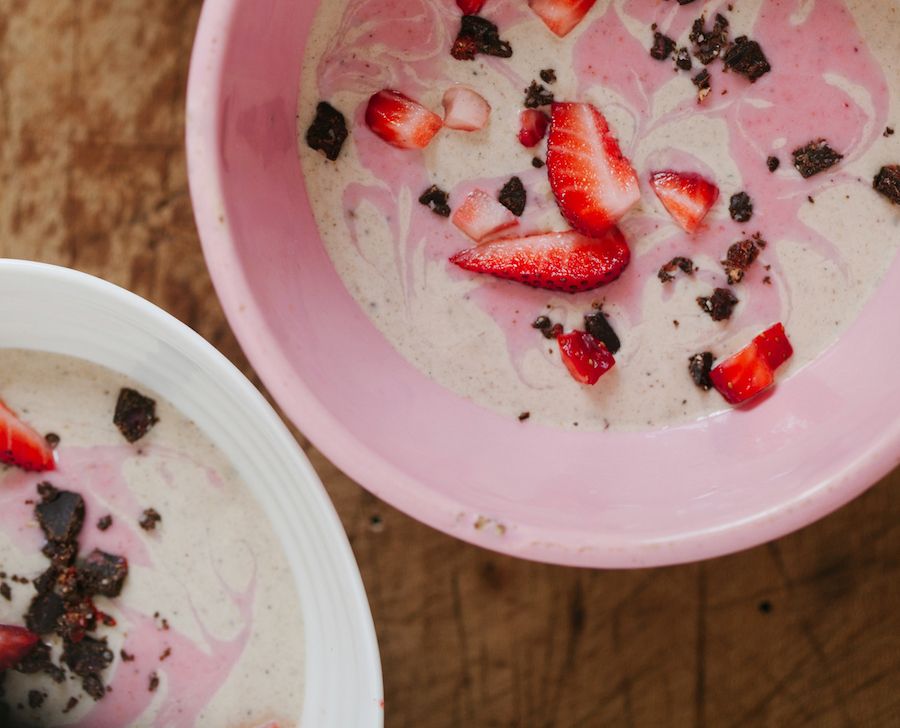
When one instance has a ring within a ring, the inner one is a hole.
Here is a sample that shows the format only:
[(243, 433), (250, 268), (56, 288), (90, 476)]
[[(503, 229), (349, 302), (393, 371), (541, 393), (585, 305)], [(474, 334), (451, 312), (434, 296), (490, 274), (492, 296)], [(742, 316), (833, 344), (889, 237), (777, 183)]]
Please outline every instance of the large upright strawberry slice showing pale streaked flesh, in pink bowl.
[(590, 104), (553, 104), (547, 172), (563, 217), (585, 235), (602, 235), (641, 197), (631, 162)]

